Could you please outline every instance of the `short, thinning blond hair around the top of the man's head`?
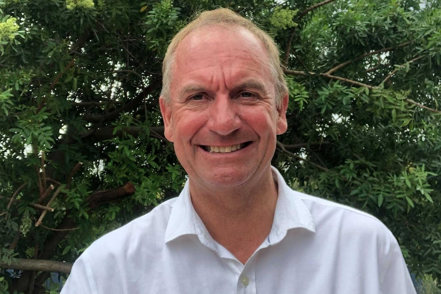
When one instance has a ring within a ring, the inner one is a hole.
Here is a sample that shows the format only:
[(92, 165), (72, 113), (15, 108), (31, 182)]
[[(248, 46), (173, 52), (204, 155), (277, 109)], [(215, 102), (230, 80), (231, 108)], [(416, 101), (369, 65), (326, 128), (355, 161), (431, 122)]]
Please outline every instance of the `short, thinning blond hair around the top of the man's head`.
[(284, 79), (283, 70), (279, 58), (279, 50), (273, 38), (266, 32), (259, 29), (253, 22), (227, 8), (218, 8), (201, 13), (191, 21), (185, 28), (179, 31), (170, 42), (162, 64), (162, 91), (166, 103), (170, 102), (170, 83), (175, 65), (174, 53), (181, 41), (190, 33), (206, 26), (230, 25), (247, 29), (256, 36), (267, 50), (269, 58), (269, 70), (275, 82), (276, 106), (280, 107), (282, 97), (288, 93), (288, 87)]

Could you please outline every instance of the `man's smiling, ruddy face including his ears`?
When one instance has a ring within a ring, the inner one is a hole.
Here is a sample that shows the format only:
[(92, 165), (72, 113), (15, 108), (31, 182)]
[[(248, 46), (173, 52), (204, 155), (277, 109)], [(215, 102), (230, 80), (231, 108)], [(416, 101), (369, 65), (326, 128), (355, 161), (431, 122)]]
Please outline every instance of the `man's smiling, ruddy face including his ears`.
[(258, 185), (270, 174), (288, 95), (277, 110), (267, 53), (252, 33), (212, 26), (188, 35), (175, 52), (170, 97), (160, 99), (165, 137), (190, 185)]

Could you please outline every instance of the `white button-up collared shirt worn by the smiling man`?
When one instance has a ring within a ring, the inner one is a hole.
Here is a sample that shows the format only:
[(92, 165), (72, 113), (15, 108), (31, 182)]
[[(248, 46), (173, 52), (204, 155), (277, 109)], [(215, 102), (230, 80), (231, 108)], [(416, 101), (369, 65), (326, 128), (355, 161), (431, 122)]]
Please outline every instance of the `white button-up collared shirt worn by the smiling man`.
[[(244, 265), (180, 196), (95, 241), (61, 294), (414, 294), (400, 246), (371, 215), (291, 190), (279, 172), (271, 232)], [(253, 228), (249, 228), (253, 230)]]

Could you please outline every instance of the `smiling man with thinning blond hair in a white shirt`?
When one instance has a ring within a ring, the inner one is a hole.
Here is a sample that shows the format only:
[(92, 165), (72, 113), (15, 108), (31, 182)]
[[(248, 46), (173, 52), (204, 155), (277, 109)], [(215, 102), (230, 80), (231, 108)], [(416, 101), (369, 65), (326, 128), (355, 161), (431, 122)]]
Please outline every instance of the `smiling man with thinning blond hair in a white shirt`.
[(163, 77), (165, 137), (187, 183), (94, 242), (62, 294), (415, 293), (379, 220), (295, 192), (271, 167), (288, 90), (267, 34), (205, 12), (171, 42)]

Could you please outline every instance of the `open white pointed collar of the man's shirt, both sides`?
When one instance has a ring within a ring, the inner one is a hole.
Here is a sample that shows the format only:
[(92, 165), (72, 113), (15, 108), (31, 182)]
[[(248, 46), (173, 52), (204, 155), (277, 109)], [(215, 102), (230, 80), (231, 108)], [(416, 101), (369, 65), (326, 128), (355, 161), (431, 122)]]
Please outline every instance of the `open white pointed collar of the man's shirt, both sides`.
[[(278, 183), (278, 199), (274, 213), (273, 227), (268, 241), (271, 245), (280, 242), (289, 230), (303, 228), (315, 232), (315, 225), (310, 211), (303, 201), (296, 195), (279, 171), (272, 167), (273, 177)], [(189, 182), (185, 183), (184, 189), (173, 203), (173, 209), (168, 220), (165, 232), (165, 242), (168, 243), (183, 235), (197, 235), (201, 243), (216, 250), (216, 241), (211, 238), (204, 223), (194, 211), (190, 198)]]

